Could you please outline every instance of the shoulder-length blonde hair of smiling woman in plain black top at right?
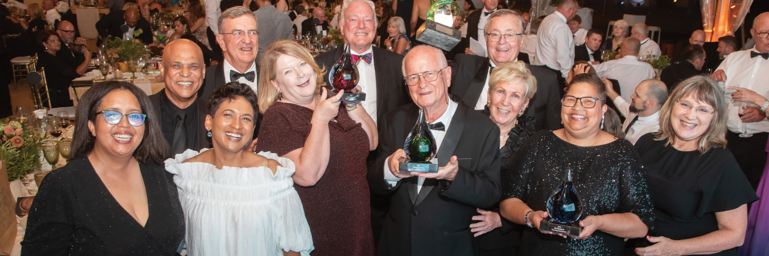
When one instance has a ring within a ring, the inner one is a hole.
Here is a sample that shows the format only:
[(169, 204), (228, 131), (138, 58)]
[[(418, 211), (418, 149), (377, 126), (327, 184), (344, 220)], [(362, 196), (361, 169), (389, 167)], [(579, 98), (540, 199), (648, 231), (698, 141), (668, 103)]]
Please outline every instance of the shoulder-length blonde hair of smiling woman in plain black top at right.
[(706, 75), (695, 75), (687, 78), (673, 89), (660, 110), (660, 131), (654, 133), (654, 140), (667, 139), (665, 146), (674, 145), (678, 136), (673, 130), (671, 115), (673, 115), (674, 108), (677, 108), (678, 101), (688, 96), (694, 98), (695, 101), (707, 103), (707, 105), (715, 108), (713, 119), (707, 127), (707, 131), (697, 138), (697, 151), (704, 154), (713, 147), (726, 147), (727, 107), (724, 91), (721, 91), (721, 87), (713, 78)]

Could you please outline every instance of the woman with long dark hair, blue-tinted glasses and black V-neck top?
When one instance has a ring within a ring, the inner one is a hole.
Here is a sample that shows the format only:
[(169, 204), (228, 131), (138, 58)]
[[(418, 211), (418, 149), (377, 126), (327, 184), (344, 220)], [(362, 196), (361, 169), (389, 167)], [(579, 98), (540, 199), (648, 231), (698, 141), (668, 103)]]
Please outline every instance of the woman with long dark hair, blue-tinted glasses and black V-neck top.
[(105, 81), (80, 98), (72, 155), (43, 180), (22, 255), (173, 255), (185, 236), (168, 144), (147, 95)]

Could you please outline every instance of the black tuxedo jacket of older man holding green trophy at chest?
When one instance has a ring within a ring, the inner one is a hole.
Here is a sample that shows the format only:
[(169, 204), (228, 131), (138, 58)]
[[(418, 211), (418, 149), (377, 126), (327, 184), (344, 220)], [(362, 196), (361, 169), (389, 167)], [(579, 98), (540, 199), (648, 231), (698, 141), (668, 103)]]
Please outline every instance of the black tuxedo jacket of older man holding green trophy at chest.
[(374, 194), (392, 194), (388, 218), (384, 220), (377, 255), (477, 255), (478, 244), (469, 226), (476, 208), (499, 201), (499, 128), (480, 111), (473, 111), (451, 95), (458, 108), (438, 148), (438, 165), (451, 156), (459, 160), (454, 181), (425, 179), (417, 192), (417, 177), (404, 178), (391, 187), (384, 181), (384, 162), (403, 148), (416, 123), (419, 108), (409, 104), (396, 108), (380, 122), (377, 160), (368, 170)]

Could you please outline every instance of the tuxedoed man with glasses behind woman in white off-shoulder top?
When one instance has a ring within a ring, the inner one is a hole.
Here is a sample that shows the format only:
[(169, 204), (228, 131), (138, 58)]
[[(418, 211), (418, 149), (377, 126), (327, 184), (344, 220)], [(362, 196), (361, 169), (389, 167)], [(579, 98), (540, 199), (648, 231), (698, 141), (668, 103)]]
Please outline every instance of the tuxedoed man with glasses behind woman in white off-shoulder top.
[[(228, 8), (221, 12), (218, 20), (219, 35), (216, 42), (221, 47), (225, 60), (217, 65), (205, 68), (208, 76), (203, 80), (203, 87), (198, 91), (198, 97), (208, 102), (214, 89), (231, 81), (239, 81), (251, 86), (257, 92), (258, 70), (256, 55), (259, 52), (258, 23), (254, 12), (243, 6)], [(243, 35), (233, 33), (241, 32)], [(251, 33), (249, 33), (251, 32)], [(253, 35), (252, 35), (253, 34)], [(254, 137), (259, 135), (261, 115), (256, 113)], [(249, 149), (253, 149), (256, 141), (251, 141)]]

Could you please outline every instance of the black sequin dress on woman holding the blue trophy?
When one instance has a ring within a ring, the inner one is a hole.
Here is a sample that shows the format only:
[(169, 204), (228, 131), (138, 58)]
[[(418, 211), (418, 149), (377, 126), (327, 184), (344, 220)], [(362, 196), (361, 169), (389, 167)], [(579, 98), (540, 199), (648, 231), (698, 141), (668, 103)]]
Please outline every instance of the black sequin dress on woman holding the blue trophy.
[[(633, 145), (618, 139), (593, 147), (580, 147), (539, 131), (509, 159), (510, 171), (502, 177), (503, 199), (519, 198), (534, 211), (547, 211), (554, 189), (572, 171), (572, 181), (582, 199), (582, 216), (631, 212), (648, 227), (654, 223), (647, 175)], [(521, 237), (522, 255), (621, 255), (624, 239), (595, 231), (578, 240), (542, 234), (526, 228)]]

